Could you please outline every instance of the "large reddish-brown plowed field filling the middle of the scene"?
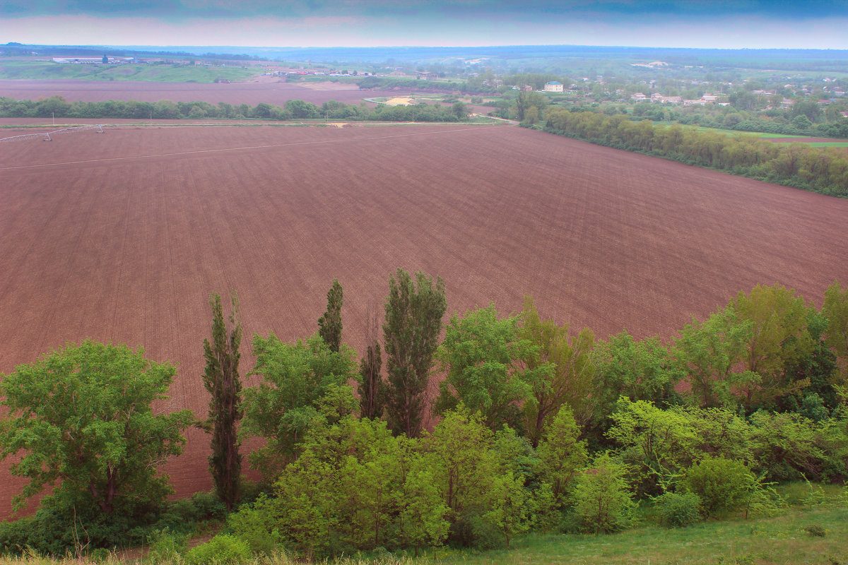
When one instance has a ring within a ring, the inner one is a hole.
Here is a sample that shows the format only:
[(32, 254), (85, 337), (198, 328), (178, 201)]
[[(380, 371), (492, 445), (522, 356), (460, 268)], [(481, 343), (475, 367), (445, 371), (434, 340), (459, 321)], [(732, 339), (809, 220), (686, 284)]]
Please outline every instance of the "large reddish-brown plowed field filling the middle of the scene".
[[(171, 406), (204, 413), (209, 293), (237, 289), (246, 335), (292, 340), (338, 277), (361, 349), (398, 267), (441, 275), (449, 313), (530, 293), (600, 337), (670, 338), (758, 283), (820, 305), (848, 283), (846, 219), (848, 201), (508, 126), (3, 143), (0, 372), (86, 337), (144, 346), (179, 365)], [(165, 468), (182, 494), (210, 485), (208, 437), (188, 438)], [(19, 490), (3, 477), (0, 513)]]

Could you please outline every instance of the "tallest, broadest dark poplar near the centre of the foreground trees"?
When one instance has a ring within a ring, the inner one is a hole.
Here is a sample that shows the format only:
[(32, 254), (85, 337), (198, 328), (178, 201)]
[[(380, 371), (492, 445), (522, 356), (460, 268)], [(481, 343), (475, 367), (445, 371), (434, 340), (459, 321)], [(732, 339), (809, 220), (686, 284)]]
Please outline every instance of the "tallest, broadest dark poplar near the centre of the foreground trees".
[(388, 280), (386, 322), (382, 326), (388, 386), (386, 412), (395, 434), (418, 437), (432, 357), (448, 309), (444, 282), (416, 273), (413, 281), (404, 269)]

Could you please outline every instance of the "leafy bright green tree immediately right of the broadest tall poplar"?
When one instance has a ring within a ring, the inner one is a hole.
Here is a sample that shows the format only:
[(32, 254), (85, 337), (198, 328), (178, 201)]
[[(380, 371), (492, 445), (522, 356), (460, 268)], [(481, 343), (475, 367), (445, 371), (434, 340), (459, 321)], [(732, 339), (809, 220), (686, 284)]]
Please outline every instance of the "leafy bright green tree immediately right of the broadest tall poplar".
[(450, 318), (436, 352), (447, 371), (439, 384), (438, 413), (454, 410), (461, 402), (481, 413), (491, 429), (523, 424), (521, 405), (530, 387), (518, 360), (527, 356), (530, 343), (518, 338), (517, 324), (516, 316), (498, 319), (493, 304)]

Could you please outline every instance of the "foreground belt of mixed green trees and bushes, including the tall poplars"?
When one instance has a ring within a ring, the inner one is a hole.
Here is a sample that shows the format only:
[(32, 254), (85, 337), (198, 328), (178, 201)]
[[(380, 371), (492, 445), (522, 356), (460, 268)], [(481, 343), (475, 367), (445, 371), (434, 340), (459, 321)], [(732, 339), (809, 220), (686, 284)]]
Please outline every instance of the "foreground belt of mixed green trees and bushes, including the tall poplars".
[[(0, 446), (30, 480), (16, 501), (55, 485), (35, 517), (3, 523), (3, 551), (61, 553), (78, 543), (69, 523), (110, 547), (209, 516), (224, 529), (189, 562), (222, 546), (308, 558), (510, 546), (530, 530), (628, 528), (641, 503), (672, 526), (776, 512), (776, 482), (848, 478), (838, 283), (821, 308), (759, 285), (671, 341), (599, 341), (543, 319), (530, 296), (521, 313), (490, 304), (444, 324), (444, 282), (398, 269), (357, 359), (336, 280), (315, 335), (253, 336), (259, 384), (244, 389), (235, 294), (230, 304), (225, 316), (210, 300), (202, 419), (154, 413), (175, 369), (126, 346), (85, 341), (3, 375)], [(157, 467), (190, 425), (211, 436), (217, 507), (165, 502)], [(265, 440), (247, 454), (259, 487), (242, 477), (249, 437)]]

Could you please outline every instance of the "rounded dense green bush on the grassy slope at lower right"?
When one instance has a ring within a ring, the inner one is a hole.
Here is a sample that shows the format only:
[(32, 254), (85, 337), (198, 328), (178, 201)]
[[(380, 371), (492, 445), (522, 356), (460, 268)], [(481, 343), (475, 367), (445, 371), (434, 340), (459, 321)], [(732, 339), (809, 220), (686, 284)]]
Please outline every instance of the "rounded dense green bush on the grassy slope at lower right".
[(707, 456), (683, 474), (683, 486), (700, 496), (706, 516), (733, 511), (756, 487), (756, 477), (745, 463)]

